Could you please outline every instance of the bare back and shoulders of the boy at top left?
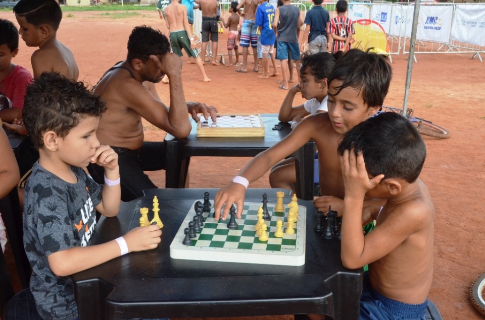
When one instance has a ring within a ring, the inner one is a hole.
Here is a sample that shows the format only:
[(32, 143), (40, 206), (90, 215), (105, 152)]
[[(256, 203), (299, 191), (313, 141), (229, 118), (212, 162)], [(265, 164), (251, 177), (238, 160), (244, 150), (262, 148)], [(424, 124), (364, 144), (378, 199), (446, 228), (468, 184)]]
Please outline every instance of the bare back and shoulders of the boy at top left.
[(58, 72), (74, 81), (79, 78), (79, 68), (72, 51), (56, 38), (43, 43), (32, 53), (30, 60), (34, 78), (39, 78), (43, 72)]

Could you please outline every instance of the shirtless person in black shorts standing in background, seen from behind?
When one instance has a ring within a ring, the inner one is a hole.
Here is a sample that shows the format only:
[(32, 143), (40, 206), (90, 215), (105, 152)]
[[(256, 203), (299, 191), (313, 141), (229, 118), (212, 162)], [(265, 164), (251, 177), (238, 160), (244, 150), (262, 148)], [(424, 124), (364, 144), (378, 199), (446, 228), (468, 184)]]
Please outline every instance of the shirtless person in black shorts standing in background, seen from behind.
[(209, 36), (212, 41), (212, 64), (219, 66), (217, 62), (217, 42), (219, 41), (219, 28), (217, 27), (217, 0), (200, 0), (202, 10), (202, 63), (205, 64), (207, 54), (207, 44)]

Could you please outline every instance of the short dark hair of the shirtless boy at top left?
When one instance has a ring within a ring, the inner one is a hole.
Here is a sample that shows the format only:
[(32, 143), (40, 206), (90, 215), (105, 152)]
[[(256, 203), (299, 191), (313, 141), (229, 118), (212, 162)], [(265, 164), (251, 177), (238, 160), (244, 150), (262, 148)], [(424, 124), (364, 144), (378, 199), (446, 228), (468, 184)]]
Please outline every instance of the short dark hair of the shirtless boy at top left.
[(14, 13), (35, 27), (46, 24), (54, 30), (59, 29), (62, 20), (61, 7), (55, 0), (20, 0)]

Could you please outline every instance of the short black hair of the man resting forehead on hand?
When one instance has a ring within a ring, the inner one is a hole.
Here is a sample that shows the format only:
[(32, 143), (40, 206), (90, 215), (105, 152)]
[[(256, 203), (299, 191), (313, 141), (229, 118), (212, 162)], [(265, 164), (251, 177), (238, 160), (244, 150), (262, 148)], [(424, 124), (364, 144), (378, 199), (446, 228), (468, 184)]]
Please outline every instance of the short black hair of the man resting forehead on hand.
[(150, 55), (159, 55), (170, 52), (170, 42), (160, 30), (147, 26), (138, 26), (133, 29), (128, 38), (128, 54), (126, 59), (131, 62), (138, 58), (146, 62)]

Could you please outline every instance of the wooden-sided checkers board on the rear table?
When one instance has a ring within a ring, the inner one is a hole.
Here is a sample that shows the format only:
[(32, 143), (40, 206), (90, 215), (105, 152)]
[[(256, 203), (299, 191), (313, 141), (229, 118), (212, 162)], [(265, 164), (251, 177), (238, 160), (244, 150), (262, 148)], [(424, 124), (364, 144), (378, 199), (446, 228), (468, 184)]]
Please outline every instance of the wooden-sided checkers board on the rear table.
[(260, 114), (218, 114), (216, 122), (199, 116), (197, 137), (264, 137)]

